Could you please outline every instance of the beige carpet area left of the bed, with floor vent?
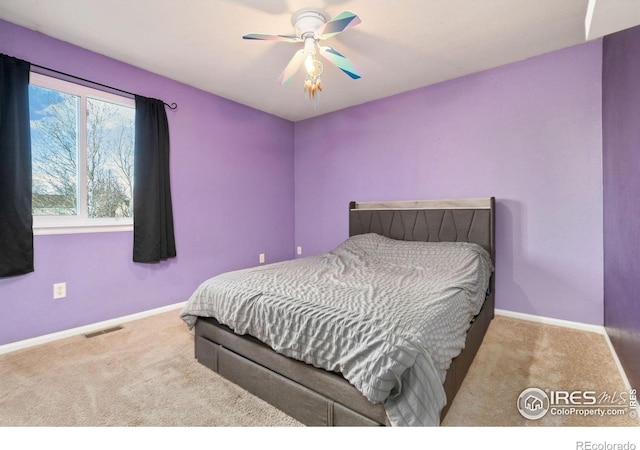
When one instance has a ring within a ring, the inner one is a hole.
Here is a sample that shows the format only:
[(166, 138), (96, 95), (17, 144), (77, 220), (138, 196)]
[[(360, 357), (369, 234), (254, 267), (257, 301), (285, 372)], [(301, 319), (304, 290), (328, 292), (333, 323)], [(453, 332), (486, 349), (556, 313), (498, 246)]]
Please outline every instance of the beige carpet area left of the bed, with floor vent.
[(202, 366), (178, 312), (0, 355), (1, 426), (290, 426)]

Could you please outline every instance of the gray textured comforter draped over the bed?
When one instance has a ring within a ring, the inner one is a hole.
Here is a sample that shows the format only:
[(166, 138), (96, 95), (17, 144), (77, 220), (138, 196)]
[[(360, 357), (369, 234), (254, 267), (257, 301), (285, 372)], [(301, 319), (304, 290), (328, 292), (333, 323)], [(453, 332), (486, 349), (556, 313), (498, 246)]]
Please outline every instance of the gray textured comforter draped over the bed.
[(462, 242), (377, 234), (335, 250), (213, 277), (182, 310), (341, 372), (392, 425), (438, 425), (451, 360), (484, 301), (489, 254)]

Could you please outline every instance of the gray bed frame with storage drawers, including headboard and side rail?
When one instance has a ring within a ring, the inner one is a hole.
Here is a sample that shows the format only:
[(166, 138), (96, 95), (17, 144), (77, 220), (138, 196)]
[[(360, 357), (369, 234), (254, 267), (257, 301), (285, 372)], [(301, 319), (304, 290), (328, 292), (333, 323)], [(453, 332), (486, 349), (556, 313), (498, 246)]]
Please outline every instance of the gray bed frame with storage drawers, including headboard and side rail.
[[(378, 233), (393, 239), (474, 242), (495, 265), (495, 200), (490, 198), (351, 202), (349, 236)], [(463, 351), (452, 361), (444, 388), (447, 404), (473, 362), (494, 316), (495, 275), (480, 313), (473, 319)], [(382, 404), (369, 402), (339, 373), (275, 353), (253, 338), (235, 334), (213, 318), (198, 318), (197, 360), (224, 378), (309, 426), (389, 425)]]

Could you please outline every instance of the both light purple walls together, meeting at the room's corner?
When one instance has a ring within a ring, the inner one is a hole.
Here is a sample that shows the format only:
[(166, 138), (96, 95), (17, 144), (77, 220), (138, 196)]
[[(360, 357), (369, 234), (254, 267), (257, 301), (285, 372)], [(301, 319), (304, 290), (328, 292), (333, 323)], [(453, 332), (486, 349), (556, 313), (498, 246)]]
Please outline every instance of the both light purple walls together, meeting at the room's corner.
[(603, 323), (601, 41), (296, 124), (2, 21), (0, 52), (178, 103), (178, 257), (133, 264), (131, 233), (36, 236), (36, 271), (0, 280), (0, 345), (333, 248), (351, 200), (495, 196), (497, 307)]

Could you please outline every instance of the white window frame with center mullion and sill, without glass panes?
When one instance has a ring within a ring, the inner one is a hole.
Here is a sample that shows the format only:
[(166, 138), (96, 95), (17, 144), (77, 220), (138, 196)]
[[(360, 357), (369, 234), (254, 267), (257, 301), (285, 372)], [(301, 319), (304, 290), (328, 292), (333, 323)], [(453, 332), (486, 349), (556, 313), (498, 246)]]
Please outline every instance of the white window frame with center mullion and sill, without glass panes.
[[(33, 215), (34, 235), (133, 231), (133, 217), (90, 218), (87, 216), (87, 97), (130, 107), (133, 108), (134, 112), (135, 99), (33, 71), (30, 73), (29, 85), (76, 95), (81, 98), (78, 121), (78, 134), (80, 136), (78, 202), (81, 213), (79, 215), (59, 216)], [(131, 200), (133, 201), (133, 199)]]

